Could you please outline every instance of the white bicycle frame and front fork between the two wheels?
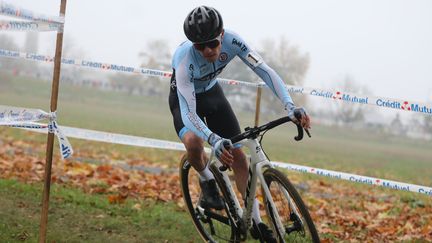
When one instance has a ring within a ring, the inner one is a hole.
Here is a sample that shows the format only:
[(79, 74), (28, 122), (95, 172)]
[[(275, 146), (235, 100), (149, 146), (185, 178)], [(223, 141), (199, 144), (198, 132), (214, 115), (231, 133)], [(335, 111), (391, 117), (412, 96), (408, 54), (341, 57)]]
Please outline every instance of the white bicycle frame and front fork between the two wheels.
[[(274, 218), (272, 218), (271, 220), (273, 220), (275, 225), (277, 225), (278, 234), (283, 235), (285, 233), (285, 228), (280, 220), (277, 210), (274, 210), (276, 207), (271, 197), (270, 189), (268, 188), (263, 175), (263, 168), (273, 167), (272, 164), (268, 160), (267, 156), (262, 150), (261, 144), (258, 142), (257, 139), (244, 139), (238, 142), (237, 144), (246, 146), (249, 149), (251, 154), (250, 164), (249, 164), (249, 177), (248, 177), (248, 182), (246, 187), (246, 198), (244, 199), (246, 212), (244, 212), (243, 208), (241, 208), (240, 206), (240, 203), (234, 192), (228, 174), (220, 171), (222, 174), (222, 178), (225, 181), (225, 185), (227, 185), (230, 198), (234, 202), (235, 212), (230, 212), (230, 213), (236, 214), (235, 218), (238, 219), (236, 221), (237, 224), (236, 226), (238, 227), (239, 224), (244, 223), (247, 226), (245, 230), (250, 229), (252, 227), (252, 208), (256, 196), (257, 180), (259, 180), (261, 182), (261, 187), (263, 188), (264, 193), (267, 195), (265, 197), (267, 199), (265, 203), (268, 206), (269, 210), (272, 212), (272, 215), (274, 216)], [(215, 164), (217, 168), (219, 168), (222, 165), (222, 163), (219, 160), (215, 159), (214, 151), (212, 151), (211, 153), (210, 161), (212, 164)], [(239, 220), (241, 220), (242, 222), (238, 222)]]

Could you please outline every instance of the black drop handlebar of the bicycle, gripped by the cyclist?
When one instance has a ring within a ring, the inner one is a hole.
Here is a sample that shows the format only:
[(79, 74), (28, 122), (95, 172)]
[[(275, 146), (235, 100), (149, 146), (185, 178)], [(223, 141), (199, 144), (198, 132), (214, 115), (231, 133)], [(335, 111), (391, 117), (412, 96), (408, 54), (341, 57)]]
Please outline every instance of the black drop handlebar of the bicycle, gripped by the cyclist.
[[(295, 114), (295, 116), (296, 116), (296, 118), (298, 118), (297, 114)], [(259, 126), (259, 127), (253, 127), (253, 128), (247, 127), (245, 129), (246, 130), (245, 132), (240, 133), (240, 134), (230, 138), (230, 140), (231, 140), (232, 144), (235, 144), (235, 143), (242, 141), (243, 139), (255, 139), (261, 134), (261, 132), (268, 131), (270, 129), (273, 129), (279, 125), (282, 125), (282, 124), (284, 124), (286, 122), (290, 122), (290, 121), (292, 121), (291, 118), (289, 118), (288, 116), (285, 116), (285, 117), (271, 121), (271, 122), (264, 124), (262, 126)], [(297, 133), (298, 133), (297, 136), (294, 137), (294, 140), (300, 141), (303, 139), (303, 127), (300, 124), (297, 124), (297, 123), (294, 123), (294, 124), (296, 124), (296, 126), (297, 126)], [(306, 131), (306, 134), (308, 135), (308, 137), (311, 137), (309, 130), (306, 128), (304, 128), (304, 130)], [(225, 165), (222, 165), (221, 167), (219, 167), (219, 170), (221, 170), (221, 171), (225, 171), (227, 169), (228, 169), (228, 167), (226, 167)]]

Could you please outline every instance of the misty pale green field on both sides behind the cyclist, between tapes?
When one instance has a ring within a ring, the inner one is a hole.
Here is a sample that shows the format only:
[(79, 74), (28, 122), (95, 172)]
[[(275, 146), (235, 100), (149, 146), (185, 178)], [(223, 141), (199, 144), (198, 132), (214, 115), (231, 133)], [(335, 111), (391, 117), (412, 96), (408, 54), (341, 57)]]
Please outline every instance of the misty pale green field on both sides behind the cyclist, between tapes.
[[(10, 79), (6, 88), (0, 89), (0, 104), (48, 110), (50, 90), (49, 82)], [(167, 97), (134, 96), (61, 83), (58, 107), (60, 125), (178, 141)], [(254, 114), (238, 114), (242, 127), (253, 124)], [(261, 117), (261, 123), (269, 119)], [(295, 142), (294, 132), (292, 125), (268, 132), (264, 149), (272, 160), (432, 186), (430, 142), (324, 126), (314, 126), (311, 139)], [(113, 145), (112, 149), (128, 150), (125, 147)]]

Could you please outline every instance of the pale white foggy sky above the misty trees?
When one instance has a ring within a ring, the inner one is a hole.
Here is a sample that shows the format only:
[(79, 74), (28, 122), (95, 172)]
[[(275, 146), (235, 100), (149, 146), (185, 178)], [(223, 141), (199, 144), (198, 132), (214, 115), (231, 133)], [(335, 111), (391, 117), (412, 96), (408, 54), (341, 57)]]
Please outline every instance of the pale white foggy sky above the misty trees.
[[(6, 2), (46, 15), (58, 15), (60, 6), (60, 0)], [(138, 67), (149, 40), (169, 40), (172, 51), (185, 40), (183, 20), (200, 4), (218, 9), (225, 27), (252, 46), (284, 36), (309, 53), (305, 86), (331, 88), (350, 75), (375, 96), (432, 102), (429, 0), (69, 0), (65, 45), (73, 43), (89, 60)], [(55, 34), (40, 34), (39, 45), (40, 54), (53, 56)]]

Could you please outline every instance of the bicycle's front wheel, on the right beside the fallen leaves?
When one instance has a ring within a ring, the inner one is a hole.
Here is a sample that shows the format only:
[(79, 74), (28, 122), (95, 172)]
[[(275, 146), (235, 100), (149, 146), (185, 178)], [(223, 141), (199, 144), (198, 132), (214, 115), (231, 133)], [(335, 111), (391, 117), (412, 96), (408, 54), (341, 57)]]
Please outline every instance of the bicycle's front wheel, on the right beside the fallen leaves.
[[(318, 232), (300, 195), (282, 172), (269, 168), (264, 179), (270, 189), (275, 209), (265, 203), (267, 220), (272, 225), (278, 242), (320, 242)], [(266, 194), (263, 193), (267, 202)], [(277, 211), (284, 227), (276, 227), (273, 211)]]

